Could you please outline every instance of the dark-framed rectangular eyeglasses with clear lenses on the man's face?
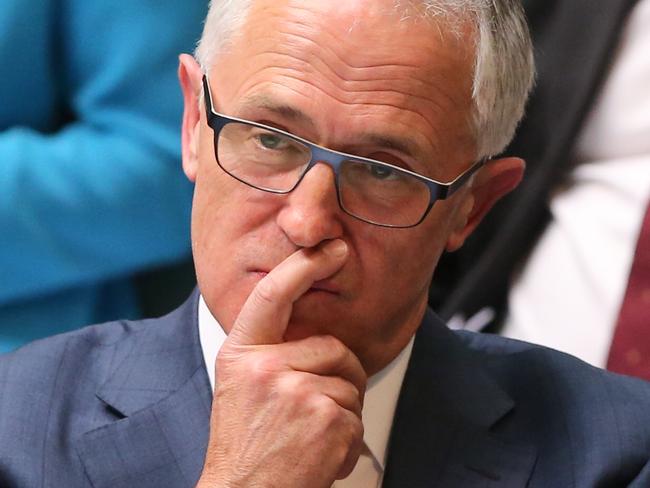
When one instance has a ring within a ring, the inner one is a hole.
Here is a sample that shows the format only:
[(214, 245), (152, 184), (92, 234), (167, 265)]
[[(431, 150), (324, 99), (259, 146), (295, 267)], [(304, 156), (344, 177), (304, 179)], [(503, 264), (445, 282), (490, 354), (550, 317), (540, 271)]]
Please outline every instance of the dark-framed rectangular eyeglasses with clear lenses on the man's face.
[(220, 114), (213, 109), (206, 76), (203, 90), (221, 169), (258, 190), (286, 194), (317, 163), (326, 163), (334, 170), (341, 209), (369, 224), (394, 228), (420, 224), (436, 200), (453, 195), (485, 162), (441, 183), (392, 164), (327, 149), (274, 127)]

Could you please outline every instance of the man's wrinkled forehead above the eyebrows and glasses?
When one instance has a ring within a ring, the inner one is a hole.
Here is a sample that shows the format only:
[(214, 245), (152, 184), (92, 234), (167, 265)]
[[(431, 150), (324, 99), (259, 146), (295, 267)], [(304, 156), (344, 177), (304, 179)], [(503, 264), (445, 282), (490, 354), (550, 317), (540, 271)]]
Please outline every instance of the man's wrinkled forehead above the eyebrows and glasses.
[(423, 152), (440, 152), (443, 141), (471, 146), (471, 34), (405, 18), (393, 3), (253, 2), (213, 70), (225, 88), (221, 100), (233, 110), (261, 101), (282, 105), (286, 115), (299, 109), (326, 145), (343, 130), (372, 126), (394, 132), (391, 139), (409, 133)]

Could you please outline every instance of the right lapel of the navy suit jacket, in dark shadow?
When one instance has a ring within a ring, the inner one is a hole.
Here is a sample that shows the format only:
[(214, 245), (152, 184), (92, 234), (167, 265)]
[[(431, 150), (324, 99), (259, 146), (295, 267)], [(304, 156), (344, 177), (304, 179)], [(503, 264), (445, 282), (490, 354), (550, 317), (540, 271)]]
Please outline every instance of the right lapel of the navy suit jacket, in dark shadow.
[(384, 488), (523, 487), (535, 450), (491, 432), (514, 403), (430, 311), (393, 423)]

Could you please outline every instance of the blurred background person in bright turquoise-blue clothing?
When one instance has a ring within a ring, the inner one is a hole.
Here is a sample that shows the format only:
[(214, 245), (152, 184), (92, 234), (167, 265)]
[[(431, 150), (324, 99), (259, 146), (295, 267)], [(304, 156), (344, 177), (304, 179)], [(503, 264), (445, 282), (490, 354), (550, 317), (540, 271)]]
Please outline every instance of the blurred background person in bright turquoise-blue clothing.
[(0, 352), (139, 317), (134, 273), (189, 254), (174, 55), (206, 9), (2, 2)]

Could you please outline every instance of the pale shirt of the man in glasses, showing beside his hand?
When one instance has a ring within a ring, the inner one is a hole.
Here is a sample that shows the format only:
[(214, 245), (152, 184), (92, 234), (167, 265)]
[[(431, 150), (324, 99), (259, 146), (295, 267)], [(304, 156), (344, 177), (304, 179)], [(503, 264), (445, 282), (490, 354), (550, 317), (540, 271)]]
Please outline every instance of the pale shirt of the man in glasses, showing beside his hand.
[[(219, 349), (226, 340), (226, 333), (210, 313), (203, 297), (199, 298), (199, 339), (210, 384), (214, 390), (214, 364)], [(362, 411), (364, 452), (350, 476), (335, 482), (333, 488), (381, 486), (390, 429), (412, 349), (413, 339), (388, 366), (368, 379)]]

